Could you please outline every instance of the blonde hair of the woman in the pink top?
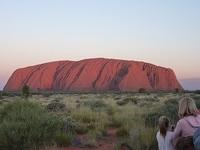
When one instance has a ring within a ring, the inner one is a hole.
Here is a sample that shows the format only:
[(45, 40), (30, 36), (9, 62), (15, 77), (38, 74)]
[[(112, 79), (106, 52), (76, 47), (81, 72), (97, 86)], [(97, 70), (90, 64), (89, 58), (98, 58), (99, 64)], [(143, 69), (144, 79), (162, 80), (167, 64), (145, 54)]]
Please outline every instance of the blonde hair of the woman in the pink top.
[(199, 114), (199, 111), (192, 98), (184, 97), (180, 100), (178, 110), (179, 117), (196, 116), (197, 114)]

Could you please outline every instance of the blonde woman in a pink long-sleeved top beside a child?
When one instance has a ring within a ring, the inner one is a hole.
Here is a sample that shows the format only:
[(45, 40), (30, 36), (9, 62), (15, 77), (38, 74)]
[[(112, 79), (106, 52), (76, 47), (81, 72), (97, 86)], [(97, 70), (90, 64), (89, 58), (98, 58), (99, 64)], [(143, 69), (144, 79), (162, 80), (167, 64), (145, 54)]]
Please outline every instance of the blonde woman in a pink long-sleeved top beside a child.
[(176, 149), (192, 149), (192, 137), (200, 127), (199, 111), (192, 98), (184, 97), (180, 100), (178, 115), (180, 120), (173, 133), (173, 141), (176, 143)]

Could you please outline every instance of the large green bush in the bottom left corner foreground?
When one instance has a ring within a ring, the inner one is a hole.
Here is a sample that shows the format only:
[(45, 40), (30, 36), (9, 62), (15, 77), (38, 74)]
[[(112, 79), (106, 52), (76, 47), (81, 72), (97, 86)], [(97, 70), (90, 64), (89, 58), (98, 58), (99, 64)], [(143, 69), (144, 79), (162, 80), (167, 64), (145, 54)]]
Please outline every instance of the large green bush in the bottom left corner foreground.
[(2, 150), (27, 150), (51, 144), (62, 126), (60, 119), (38, 104), (8, 103), (0, 110), (0, 147)]

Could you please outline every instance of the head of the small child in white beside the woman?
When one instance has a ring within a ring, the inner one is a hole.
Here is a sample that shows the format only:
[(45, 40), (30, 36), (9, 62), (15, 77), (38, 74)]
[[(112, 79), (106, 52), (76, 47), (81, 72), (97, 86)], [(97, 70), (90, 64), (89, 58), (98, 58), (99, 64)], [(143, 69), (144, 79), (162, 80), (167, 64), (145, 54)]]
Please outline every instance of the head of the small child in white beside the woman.
[(158, 126), (160, 129), (160, 134), (166, 136), (167, 130), (169, 129), (169, 119), (166, 116), (161, 116), (158, 121)]

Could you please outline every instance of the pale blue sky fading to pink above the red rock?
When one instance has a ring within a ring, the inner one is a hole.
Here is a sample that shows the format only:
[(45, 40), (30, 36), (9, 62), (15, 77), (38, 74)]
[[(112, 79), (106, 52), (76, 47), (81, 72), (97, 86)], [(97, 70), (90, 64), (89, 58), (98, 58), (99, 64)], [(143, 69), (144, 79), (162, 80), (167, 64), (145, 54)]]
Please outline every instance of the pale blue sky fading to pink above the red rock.
[(21, 67), (116, 58), (200, 78), (199, 0), (0, 0), (0, 89)]

